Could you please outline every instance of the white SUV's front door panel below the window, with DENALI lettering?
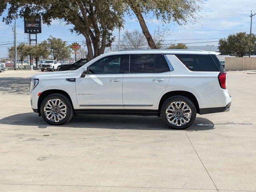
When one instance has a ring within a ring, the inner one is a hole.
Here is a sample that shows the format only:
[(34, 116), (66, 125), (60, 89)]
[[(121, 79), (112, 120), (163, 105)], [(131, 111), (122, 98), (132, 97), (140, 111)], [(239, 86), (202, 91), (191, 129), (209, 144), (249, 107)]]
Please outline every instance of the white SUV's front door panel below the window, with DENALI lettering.
[(77, 78), (77, 102), (82, 109), (123, 109), (123, 74), (91, 74)]

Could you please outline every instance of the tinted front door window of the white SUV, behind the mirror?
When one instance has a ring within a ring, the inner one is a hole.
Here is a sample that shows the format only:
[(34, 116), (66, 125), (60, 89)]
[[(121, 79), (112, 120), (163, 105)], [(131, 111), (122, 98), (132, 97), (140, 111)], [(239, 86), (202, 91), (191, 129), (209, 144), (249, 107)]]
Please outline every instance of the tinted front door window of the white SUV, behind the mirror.
[(95, 63), (91, 64), (88, 68), (89, 74), (118, 74), (123, 73), (121, 62), (123, 61), (122, 55), (112, 55), (104, 57)]

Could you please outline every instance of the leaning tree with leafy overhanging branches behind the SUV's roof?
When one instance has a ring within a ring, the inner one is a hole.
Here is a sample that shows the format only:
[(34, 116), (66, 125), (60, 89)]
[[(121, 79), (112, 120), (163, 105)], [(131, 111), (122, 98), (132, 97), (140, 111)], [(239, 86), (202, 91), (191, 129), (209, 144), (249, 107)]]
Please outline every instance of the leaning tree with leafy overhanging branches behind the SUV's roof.
[(136, 15), (149, 47), (157, 49), (157, 44), (147, 28), (145, 17), (152, 15), (151, 18), (163, 23), (175, 22), (182, 26), (198, 17), (202, 0), (123, 0), (123, 2)]

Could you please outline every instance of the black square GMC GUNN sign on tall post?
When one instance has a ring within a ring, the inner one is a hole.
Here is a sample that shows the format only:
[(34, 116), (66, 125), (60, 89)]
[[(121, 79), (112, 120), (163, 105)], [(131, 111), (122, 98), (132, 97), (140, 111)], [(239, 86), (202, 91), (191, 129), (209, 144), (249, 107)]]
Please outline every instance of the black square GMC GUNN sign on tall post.
[(24, 18), (24, 30), (29, 34), (41, 33), (41, 16)]

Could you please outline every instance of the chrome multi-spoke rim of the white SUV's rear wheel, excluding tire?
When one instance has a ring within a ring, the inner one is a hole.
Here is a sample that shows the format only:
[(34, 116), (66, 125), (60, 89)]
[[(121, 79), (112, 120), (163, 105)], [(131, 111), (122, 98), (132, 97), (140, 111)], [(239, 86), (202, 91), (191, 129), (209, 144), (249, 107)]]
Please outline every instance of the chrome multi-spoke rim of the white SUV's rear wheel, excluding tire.
[(166, 109), (166, 118), (175, 126), (183, 126), (191, 119), (191, 109), (185, 102), (172, 102)]

